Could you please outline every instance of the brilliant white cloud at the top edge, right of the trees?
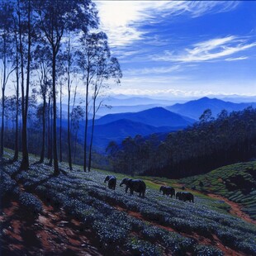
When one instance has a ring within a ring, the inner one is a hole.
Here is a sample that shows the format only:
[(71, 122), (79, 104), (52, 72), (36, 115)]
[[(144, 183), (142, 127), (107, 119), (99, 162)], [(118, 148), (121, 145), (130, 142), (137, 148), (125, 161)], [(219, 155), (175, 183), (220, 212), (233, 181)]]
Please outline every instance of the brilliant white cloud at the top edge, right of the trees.
[(130, 45), (143, 39), (140, 30), (144, 21), (159, 22), (171, 16), (187, 14), (200, 17), (211, 12), (229, 12), (237, 1), (96, 1), (102, 30), (107, 32), (112, 46)]

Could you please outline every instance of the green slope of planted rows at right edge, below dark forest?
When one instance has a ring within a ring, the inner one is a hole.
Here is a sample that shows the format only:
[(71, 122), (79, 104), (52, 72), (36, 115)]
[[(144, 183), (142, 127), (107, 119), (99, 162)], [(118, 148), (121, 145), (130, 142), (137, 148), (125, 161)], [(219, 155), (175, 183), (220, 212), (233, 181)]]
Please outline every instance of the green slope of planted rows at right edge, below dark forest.
[[(199, 186), (200, 182), (203, 187)], [(235, 201), (256, 220), (256, 161), (227, 165), (210, 173), (183, 178), (180, 183)]]

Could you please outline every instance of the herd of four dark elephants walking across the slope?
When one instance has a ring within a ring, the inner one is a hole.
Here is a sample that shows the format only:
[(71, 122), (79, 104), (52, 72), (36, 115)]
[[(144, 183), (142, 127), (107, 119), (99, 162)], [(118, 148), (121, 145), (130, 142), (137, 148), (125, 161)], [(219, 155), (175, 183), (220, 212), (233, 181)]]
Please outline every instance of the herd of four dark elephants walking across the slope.
[[(108, 183), (108, 188), (115, 190), (116, 189), (116, 177), (112, 175), (107, 175), (104, 183)], [(139, 193), (139, 197), (145, 197), (146, 184), (141, 179), (132, 179), (124, 178), (120, 187), (126, 185), (126, 193), (130, 189), (130, 195), (133, 195), (133, 192)], [(163, 195), (171, 196), (172, 198), (176, 196), (176, 199), (181, 201), (192, 201), (194, 202), (194, 195), (191, 192), (176, 192), (173, 187), (161, 186), (159, 192), (163, 192)]]

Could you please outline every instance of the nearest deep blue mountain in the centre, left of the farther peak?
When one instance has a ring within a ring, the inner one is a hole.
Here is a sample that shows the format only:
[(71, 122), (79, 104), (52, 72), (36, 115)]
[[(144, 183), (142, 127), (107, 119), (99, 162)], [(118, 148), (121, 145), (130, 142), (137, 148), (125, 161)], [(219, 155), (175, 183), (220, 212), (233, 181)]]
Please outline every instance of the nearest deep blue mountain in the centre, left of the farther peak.
[[(94, 145), (98, 151), (105, 150), (111, 140), (121, 142), (126, 137), (152, 135), (183, 130), (195, 120), (173, 113), (163, 107), (154, 107), (136, 113), (119, 113), (102, 116), (95, 121)], [(65, 121), (63, 124), (66, 123)], [(64, 125), (65, 126), (65, 125)], [(88, 133), (91, 134), (92, 121)], [(78, 138), (83, 141), (84, 122), (80, 124)]]

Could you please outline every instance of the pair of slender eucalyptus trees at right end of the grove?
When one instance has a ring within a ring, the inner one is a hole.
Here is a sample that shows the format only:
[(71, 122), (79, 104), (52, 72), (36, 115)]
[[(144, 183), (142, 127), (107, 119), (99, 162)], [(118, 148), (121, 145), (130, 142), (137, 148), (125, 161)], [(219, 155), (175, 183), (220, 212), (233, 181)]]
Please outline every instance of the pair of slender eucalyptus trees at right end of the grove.
[[(102, 101), (97, 102), (97, 98), (102, 95), (104, 89), (107, 88), (107, 84), (105, 82), (108, 79), (116, 78), (116, 82), (120, 83), (119, 78), (121, 78), (121, 69), (117, 59), (111, 58), (105, 33), (98, 32), (83, 35), (80, 42), (82, 47), (77, 52), (78, 65), (83, 71), (83, 81), (86, 88), (83, 170), (86, 171), (88, 168), (88, 171), (90, 171), (95, 116), (97, 110), (102, 105)], [(92, 133), (88, 151), (90, 89), (92, 89)]]

